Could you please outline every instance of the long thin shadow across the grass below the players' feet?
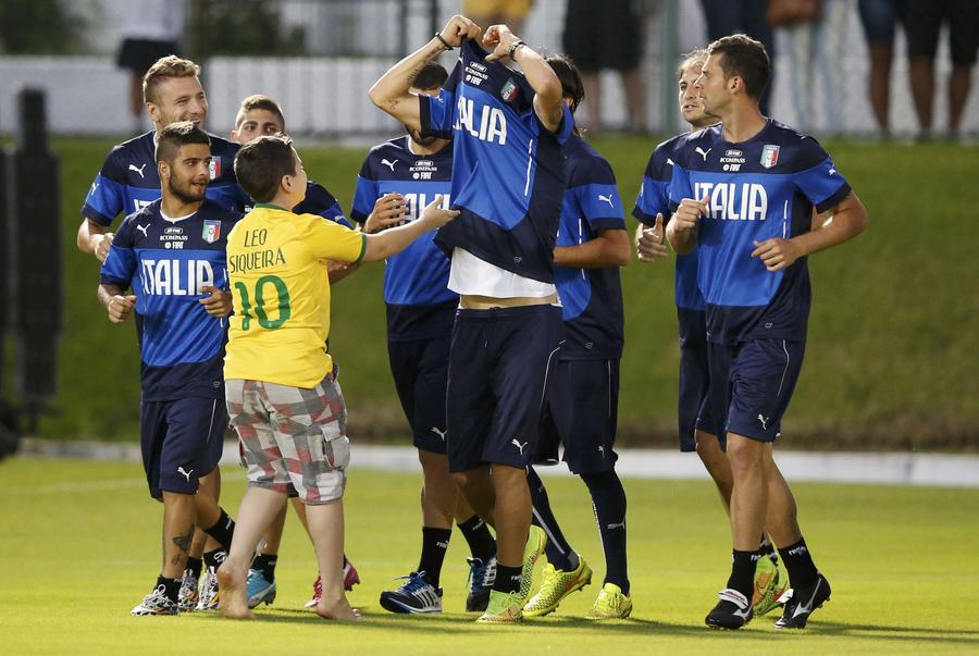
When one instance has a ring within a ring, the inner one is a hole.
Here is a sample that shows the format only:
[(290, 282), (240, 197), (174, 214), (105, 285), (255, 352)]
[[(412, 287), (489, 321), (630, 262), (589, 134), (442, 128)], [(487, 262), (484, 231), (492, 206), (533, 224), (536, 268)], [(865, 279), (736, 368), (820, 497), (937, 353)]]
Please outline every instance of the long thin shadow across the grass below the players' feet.
[[(758, 622), (773, 623), (774, 618), (766, 618), (755, 620), (753, 627), (757, 628)], [(356, 626), (364, 631), (408, 631), (418, 634), (438, 635), (445, 633), (494, 633), (500, 630), (500, 627), (488, 624), (475, 624), (475, 615), (461, 614), (442, 614), (430, 615), (425, 617), (406, 617), (402, 615), (392, 615), (377, 609), (368, 609), (364, 612), (363, 620)], [(256, 621), (261, 623), (299, 623), (299, 624), (321, 624), (324, 620), (320, 619), (315, 614), (305, 609), (277, 608), (274, 615), (256, 614)], [(768, 638), (769, 635), (784, 635), (786, 640), (791, 640), (792, 635), (811, 635), (821, 638), (846, 638), (863, 640), (892, 640), (892, 641), (921, 641), (930, 644), (961, 644), (977, 645), (979, 644), (979, 630), (970, 629), (929, 629), (924, 627), (897, 627), (887, 624), (846, 624), (840, 622), (821, 622), (815, 621), (810, 628), (802, 631), (777, 631), (771, 629), (770, 632), (743, 631), (743, 632), (715, 632), (703, 626), (696, 624), (676, 624), (669, 622), (658, 622), (647, 619), (628, 619), (595, 622), (580, 617), (547, 617), (541, 619), (525, 620), (522, 624), (509, 627), (506, 630), (518, 630), (521, 632), (532, 632), (541, 629), (560, 628), (562, 632), (588, 632), (590, 634), (604, 633), (606, 635), (662, 635), (674, 638), (696, 638), (704, 635), (729, 635), (732, 640), (748, 640)]]

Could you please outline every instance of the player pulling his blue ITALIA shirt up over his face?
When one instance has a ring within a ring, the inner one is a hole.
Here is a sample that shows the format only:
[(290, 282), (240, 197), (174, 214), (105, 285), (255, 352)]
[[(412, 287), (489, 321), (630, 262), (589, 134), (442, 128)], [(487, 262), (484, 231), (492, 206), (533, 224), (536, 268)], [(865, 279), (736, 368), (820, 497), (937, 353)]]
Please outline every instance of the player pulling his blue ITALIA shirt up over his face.
[[(438, 96), (412, 94), (419, 71), (453, 48), (461, 57)], [(409, 132), (453, 139), (453, 207), (462, 214), (435, 238), (451, 255), (448, 286), (460, 296), (446, 454), (466, 499), (496, 529), (497, 574), (478, 621), (520, 621), (546, 541), (531, 525), (525, 468), (562, 337), (552, 261), (571, 112), (544, 58), (506, 25), (483, 35), (459, 15), (385, 73), (370, 98)]]

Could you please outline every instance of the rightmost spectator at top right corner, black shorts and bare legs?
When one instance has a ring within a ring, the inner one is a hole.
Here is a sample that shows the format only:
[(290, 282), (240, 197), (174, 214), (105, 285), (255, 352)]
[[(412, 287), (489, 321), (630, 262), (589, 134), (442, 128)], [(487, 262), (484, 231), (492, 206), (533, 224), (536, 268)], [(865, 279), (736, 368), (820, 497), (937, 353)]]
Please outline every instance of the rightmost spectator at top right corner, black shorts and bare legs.
[(949, 79), (949, 133), (955, 135), (969, 97), (971, 69), (979, 48), (976, 0), (907, 0), (905, 32), (910, 62), (912, 96), (922, 137), (931, 135), (934, 101), (934, 53), (942, 23), (949, 24), (952, 76)]

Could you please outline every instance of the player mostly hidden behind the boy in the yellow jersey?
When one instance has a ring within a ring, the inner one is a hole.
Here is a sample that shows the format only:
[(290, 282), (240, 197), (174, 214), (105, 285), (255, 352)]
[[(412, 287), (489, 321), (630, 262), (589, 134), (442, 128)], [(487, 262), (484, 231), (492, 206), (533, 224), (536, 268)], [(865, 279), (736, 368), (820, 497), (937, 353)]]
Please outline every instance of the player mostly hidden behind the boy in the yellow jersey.
[[(273, 98), (257, 94), (248, 96), (241, 101), (238, 113), (235, 116), (235, 127), (231, 133), (231, 140), (240, 145), (249, 144), (260, 136), (269, 136), (285, 133), (285, 115), (282, 107)], [(292, 210), (297, 214), (319, 214), (329, 221), (351, 227), (344, 216), (344, 210), (339, 201), (320, 184), (308, 182), (306, 198)], [(343, 262), (330, 263), (330, 283), (336, 284), (356, 269)], [(243, 457), (244, 461), (244, 457)], [(293, 508), (302, 527), (306, 525), (306, 507), (299, 503), (295, 490), (289, 490), (289, 498), (293, 499)], [(282, 532), (285, 528), (286, 509), (273, 520), (269, 530), (262, 535), (261, 548), (256, 554), (248, 569), (248, 607), (255, 608), (259, 604), (271, 604), (275, 601), (275, 567), (278, 564), (278, 546), (282, 543)], [(350, 591), (356, 583), (360, 583), (360, 577), (354, 565), (344, 556), (344, 590)], [(313, 583), (313, 598), (307, 602), (307, 607), (312, 608), (319, 601), (321, 580), (317, 577)]]

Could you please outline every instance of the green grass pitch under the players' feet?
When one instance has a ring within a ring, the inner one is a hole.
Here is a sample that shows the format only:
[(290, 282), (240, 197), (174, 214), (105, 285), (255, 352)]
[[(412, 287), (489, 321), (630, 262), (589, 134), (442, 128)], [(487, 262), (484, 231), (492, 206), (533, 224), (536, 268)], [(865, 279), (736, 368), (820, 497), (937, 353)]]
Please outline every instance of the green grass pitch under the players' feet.
[[(692, 456), (693, 457), (693, 456)], [(162, 509), (138, 463), (13, 459), (0, 465), (2, 654), (935, 654), (979, 652), (979, 490), (801, 484), (801, 520), (833, 596), (804, 632), (778, 633), (774, 615), (736, 633), (703, 624), (724, 582), (729, 532), (706, 481), (625, 480), (631, 620), (581, 619), (604, 574), (584, 486), (546, 479), (592, 585), (556, 615), (520, 627), (481, 627), (464, 604), (466, 543), (455, 533), (442, 616), (393, 616), (377, 596), (417, 565), (413, 472), (351, 470), (346, 550), (363, 584), (358, 624), (302, 608), (312, 549), (289, 517), (278, 597), (251, 622), (218, 614), (134, 618), (159, 571)], [(240, 470), (225, 469), (223, 505), (236, 513)], [(538, 568), (540, 569), (540, 568)]]

